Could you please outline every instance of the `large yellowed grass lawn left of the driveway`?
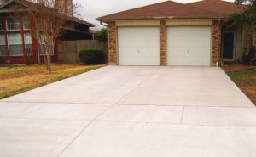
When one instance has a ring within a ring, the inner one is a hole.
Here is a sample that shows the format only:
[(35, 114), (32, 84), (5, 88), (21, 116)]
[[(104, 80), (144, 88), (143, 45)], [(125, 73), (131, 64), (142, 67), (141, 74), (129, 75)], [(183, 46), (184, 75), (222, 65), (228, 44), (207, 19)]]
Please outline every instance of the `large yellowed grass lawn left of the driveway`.
[(102, 66), (104, 65), (53, 64), (50, 75), (45, 70), (44, 65), (0, 66), (0, 99), (90, 70), (96, 70)]

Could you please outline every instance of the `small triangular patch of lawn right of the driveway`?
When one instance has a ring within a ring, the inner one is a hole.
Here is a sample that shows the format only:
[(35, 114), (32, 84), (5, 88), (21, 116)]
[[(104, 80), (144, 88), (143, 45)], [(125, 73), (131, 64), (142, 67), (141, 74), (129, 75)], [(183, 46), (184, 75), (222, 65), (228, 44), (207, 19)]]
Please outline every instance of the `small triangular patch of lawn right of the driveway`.
[(231, 71), (227, 74), (256, 105), (256, 69)]

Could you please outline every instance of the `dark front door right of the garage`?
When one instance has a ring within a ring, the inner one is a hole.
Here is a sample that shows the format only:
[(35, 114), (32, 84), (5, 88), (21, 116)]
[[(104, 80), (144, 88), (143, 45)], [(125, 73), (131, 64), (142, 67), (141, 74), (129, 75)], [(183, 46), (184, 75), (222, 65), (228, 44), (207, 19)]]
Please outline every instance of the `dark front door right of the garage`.
[(234, 59), (235, 53), (235, 33), (224, 32), (222, 40), (222, 58)]

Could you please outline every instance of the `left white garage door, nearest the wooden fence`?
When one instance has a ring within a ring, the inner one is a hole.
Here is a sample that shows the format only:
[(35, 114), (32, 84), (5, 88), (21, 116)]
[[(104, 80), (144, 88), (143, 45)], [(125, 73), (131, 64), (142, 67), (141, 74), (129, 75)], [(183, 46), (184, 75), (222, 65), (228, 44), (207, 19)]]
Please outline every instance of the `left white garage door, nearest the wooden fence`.
[(159, 36), (156, 27), (119, 28), (119, 64), (160, 65)]

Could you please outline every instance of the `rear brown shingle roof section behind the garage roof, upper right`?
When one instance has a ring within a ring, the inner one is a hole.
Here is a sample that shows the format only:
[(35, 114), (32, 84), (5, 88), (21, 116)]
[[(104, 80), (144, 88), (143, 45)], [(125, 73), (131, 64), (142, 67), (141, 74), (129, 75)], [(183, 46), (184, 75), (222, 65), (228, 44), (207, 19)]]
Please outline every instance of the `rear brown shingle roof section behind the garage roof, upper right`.
[(187, 5), (222, 15), (240, 13), (243, 10), (241, 7), (236, 5), (236, 3), (222, 0), (203, 0), (195, 3), (188, 3)]

